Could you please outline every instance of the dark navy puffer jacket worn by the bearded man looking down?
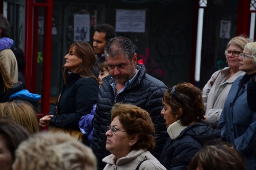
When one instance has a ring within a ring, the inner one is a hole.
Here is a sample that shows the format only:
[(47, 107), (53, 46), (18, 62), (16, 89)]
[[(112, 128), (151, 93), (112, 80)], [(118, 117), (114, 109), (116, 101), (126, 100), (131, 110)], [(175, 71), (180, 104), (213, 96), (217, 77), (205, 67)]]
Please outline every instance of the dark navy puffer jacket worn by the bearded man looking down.
[[(163, 108), (162, 98), (167, 87), (162, 81), (146, 74), (144, 65), (137, 65), (141, 67), (137, 77), (132, 84), (117, 96), (116, 103), (133, 104), (149, 112), (156, 132), (155, 149), (151, 153), (156, 158), (159, 158), (168, 138), (165, 120), (160, 115)], [(102, 170), (106, 165), (101, 160), (110, 155), (110, 152), (105, 148), (107, 140), (105, 129), (106, 126), (111, 124), (111, 109), (115, 103), (115, 94), (111, 86), (114, 80), (109, 75), (102, 81), (103, 84), (99, 90), (98, 103), (93, 120), (94, 132), (91, 145), (98, 160), (98, 170)]]

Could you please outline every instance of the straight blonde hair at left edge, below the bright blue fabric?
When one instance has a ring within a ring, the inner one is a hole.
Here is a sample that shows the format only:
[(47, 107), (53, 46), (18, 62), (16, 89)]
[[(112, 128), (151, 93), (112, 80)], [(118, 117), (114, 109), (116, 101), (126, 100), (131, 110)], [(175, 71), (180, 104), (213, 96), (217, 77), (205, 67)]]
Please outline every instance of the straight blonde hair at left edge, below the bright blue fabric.
[(36, 112), (32, 105), (25, 101), (0, 103), (0, 116), (25, 127), (31, 134), (39, 131)]

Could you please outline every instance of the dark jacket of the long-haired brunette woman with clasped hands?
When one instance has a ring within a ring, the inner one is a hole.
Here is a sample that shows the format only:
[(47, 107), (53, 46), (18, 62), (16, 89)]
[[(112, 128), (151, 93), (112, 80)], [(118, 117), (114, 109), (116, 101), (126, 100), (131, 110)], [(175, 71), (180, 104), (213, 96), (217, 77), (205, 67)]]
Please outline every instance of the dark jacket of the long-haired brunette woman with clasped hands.
[(74, 129), (80, 131), (78, 122), (83, 115), (91, 113), (92, 105), (96, 103), (99, 85), (93, 78), (82, 78), (78, 74), (71, 73), (67, 84), (62, 89), (58, 100), (52, 106), (48, 115), (55, 115), (51, 118), (50, 124), (60, 128)]

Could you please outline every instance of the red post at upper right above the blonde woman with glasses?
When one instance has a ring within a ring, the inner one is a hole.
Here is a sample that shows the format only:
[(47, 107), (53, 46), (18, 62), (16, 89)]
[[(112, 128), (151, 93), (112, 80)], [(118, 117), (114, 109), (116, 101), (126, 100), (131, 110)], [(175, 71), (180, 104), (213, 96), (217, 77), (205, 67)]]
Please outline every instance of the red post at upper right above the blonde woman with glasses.
[(236, 35), (250, 35), (250, 23), (251, 23), (251, 12), (250, 12), (250, 1), (251, 0), (239, 0), (238, 12), (237, 12), (237, 29)]

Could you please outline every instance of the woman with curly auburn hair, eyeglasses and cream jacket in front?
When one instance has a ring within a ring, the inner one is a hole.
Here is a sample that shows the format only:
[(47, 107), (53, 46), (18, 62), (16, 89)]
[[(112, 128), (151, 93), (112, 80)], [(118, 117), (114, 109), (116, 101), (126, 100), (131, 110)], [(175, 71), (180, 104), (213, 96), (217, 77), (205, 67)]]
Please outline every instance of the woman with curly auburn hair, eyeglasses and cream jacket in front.
[(149, 152), (155, 145), (155, 128), (146, 110), (115, 104), (106, 131), (106, 149), (112, 154), (103, 158), (104, 170), (166, 170)]

